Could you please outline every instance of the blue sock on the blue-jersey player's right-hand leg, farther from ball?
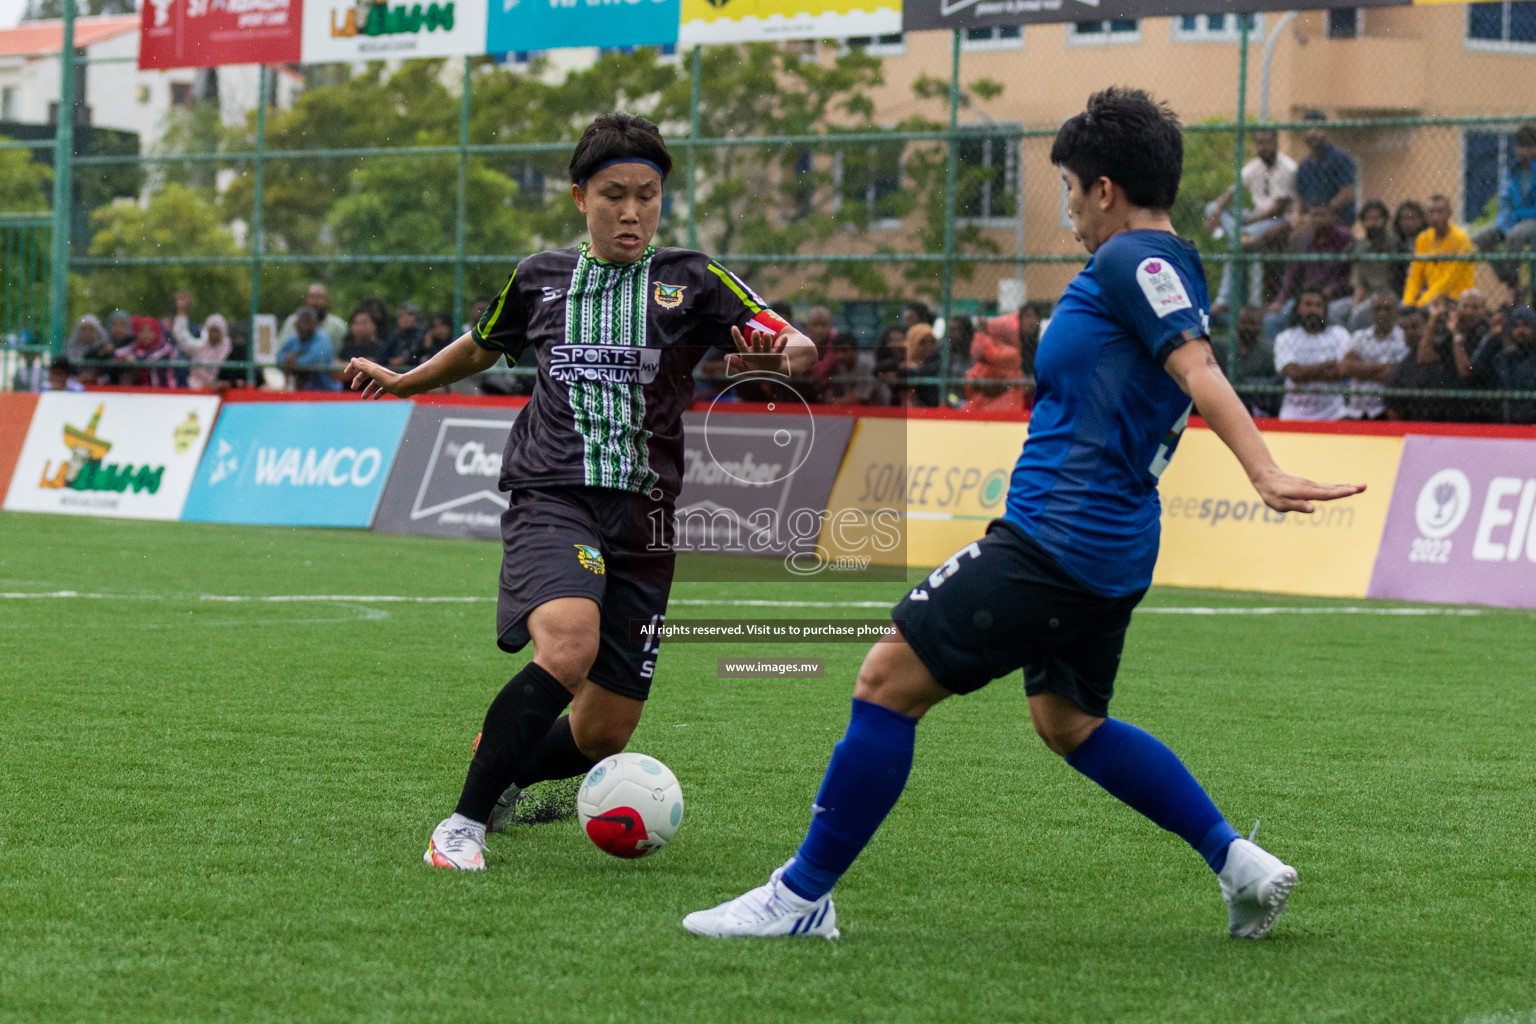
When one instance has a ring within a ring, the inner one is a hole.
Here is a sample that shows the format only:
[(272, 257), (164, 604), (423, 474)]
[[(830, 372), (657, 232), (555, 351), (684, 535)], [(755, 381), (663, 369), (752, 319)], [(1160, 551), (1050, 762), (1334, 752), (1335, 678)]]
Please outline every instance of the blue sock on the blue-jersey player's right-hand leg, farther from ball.
[(1227, 844), (1240, 838), (1236, 829), (1221, 817), (1178, 754), (1150, 732), (1104, 718), (1066, 763), (1109, 795), (1178, 834), (1206, 858), (1210, 870), (1221, 870), (1227, 863)]

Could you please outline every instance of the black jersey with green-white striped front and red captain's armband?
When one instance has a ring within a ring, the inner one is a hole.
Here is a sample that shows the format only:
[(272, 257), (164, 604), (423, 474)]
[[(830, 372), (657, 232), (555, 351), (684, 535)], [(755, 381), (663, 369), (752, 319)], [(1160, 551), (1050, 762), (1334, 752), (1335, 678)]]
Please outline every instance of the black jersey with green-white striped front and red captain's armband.
[(501, 488), (578, 484), (622, 491), (682, 481), (682, 413), (693, 368), (731, 327), (785, 325), (740, 278), (687, 249), (604, 263), (585, 244), (528, 256), (472, 332), (539, 379), (507, 438)]

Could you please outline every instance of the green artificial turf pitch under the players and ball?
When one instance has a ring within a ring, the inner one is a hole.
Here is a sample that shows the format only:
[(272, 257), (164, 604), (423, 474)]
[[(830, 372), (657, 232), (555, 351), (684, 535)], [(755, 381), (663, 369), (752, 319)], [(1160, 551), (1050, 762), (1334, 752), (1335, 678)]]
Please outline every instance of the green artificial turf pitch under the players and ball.
[[(679, 920), (793, 852), (866, 645), (664, 645), (631, 749), (682, 781), (673, 844), (621, 861), (573, 821), (525, 826), (456, 875), (421, 851), (525, 659), (496, 649), (495, 603), (204, 599), (490, 597), (499, 554), (0, 514), (0, 1019), (1536, 1019), (1528, 613), (1137, 616), (1115, 712), (1301, 872), (1263, 943), (1227, 938), (1180, 840), (1035, 740), (1017, 676), (919, 729), (902, 803), (837, 889), (840, 943), (714, 943)], [(108, 597), (12, 596), (65, 590)], [(1146, 602), (1175, 605), (1372, 602)], [(826, 679), (717, 680), (739, 654), (825, 657)]]

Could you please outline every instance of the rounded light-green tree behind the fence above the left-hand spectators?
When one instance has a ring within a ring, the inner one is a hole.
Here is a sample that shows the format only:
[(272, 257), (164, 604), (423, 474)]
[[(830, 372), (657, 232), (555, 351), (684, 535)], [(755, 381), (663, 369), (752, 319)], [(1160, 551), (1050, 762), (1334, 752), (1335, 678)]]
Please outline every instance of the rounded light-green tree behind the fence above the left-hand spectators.
[(94, 310), (127, 309), (146, 315), (170, 310), (170, 295), (189, 289), (200, 313), (244, 318), (250, 306), (249, 272), (240, 264), (190, 264), (195, 256), (240, 256), (235, 238), (220, 224), (218, 207), (183, 184), (140, 209), (117, 203), (91, 215), (92, 256), (158, 256), (152, 266), (94, 267), (86, 276), (86, 304)]

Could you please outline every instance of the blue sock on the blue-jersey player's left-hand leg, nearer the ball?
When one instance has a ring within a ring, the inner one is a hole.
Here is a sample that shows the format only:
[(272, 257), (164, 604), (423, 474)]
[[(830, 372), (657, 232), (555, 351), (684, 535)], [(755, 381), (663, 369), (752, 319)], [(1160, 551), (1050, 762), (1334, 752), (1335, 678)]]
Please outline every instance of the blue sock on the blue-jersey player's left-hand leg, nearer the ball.
[(917, 718), (854, 700), (811, 808), (811, 831), (783, 872), (790, 892), (820, 900), (833, 890), (902, 795), (915, 738)]

